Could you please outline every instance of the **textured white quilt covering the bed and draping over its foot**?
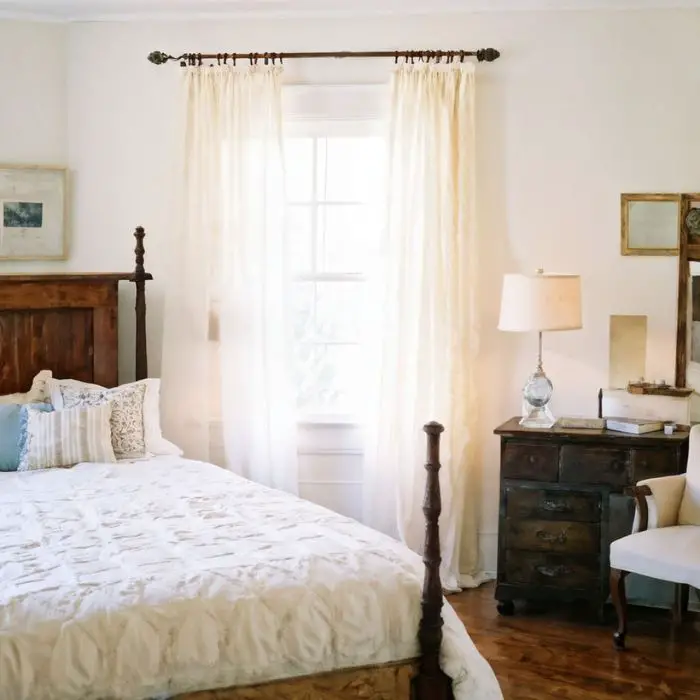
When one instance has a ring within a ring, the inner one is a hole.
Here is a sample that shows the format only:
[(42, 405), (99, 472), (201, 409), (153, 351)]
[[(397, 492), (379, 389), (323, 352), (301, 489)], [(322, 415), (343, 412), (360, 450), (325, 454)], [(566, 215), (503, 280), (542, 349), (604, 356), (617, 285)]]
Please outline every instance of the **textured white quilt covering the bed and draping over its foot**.
[[(408, 659), (423, 567), (200, 462), (0, 475), (0, 698), (136, 700)], [(449, 606), (457, 700), (502, 697)]]

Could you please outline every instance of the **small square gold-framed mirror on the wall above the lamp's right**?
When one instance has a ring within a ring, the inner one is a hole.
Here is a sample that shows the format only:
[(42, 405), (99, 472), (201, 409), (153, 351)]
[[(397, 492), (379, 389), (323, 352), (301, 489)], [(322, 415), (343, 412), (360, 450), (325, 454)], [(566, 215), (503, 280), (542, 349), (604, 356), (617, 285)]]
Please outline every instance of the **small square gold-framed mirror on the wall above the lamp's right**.
[(623, 194), (622, 254), (678, 255), (679, 194)]

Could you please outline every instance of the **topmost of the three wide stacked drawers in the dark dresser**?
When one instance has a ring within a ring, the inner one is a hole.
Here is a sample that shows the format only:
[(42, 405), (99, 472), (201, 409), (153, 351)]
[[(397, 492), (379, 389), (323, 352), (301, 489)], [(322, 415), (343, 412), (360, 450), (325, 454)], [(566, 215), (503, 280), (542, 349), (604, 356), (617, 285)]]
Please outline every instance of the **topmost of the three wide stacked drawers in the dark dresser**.
[(513, 519), (595, 523), (600, 520), (600, 494), (508, 486), (506, 516)]

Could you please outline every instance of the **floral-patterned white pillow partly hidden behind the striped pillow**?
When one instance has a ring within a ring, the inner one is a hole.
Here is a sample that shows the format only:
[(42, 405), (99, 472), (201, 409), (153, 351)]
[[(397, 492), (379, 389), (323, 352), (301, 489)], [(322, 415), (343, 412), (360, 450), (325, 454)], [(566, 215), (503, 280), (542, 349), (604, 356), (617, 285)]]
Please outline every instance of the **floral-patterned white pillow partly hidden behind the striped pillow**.
[(112, 404), (112, 447), (117, 459), (134, 459), (146, 454), (143, 437), (143, 400), (146, 387), (141, 384), (114, 389), (62, 386), (63, 410), (77, 406)]

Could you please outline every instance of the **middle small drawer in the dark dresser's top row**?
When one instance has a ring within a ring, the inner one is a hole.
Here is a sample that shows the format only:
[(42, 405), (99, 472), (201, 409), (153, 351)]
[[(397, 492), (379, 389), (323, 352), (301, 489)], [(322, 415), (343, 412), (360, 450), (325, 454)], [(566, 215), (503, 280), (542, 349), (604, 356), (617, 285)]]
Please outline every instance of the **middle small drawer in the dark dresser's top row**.
[(631, 483), (629, 450), (615, 447), (563, 445), (561, 481), (626, 486)]

